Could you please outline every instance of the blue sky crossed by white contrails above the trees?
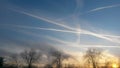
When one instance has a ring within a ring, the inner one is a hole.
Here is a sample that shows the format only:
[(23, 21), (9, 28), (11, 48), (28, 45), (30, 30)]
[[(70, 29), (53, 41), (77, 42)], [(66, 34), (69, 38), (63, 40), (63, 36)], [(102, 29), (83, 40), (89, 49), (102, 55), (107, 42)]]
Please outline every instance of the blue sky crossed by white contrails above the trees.
[(120, 0), (0, 0), (0, 55), (27, 48), (120, 55)]

